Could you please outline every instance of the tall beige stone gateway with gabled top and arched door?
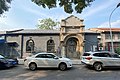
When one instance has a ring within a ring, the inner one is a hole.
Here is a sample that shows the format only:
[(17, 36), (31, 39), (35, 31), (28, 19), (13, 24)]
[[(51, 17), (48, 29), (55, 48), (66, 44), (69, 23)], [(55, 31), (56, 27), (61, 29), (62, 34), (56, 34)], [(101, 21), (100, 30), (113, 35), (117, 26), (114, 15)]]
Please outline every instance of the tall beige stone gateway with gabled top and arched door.
[(62, 57), (80, 59), (84, 49), (84, 27), (83, 19), (70, 16), (61, 21), (60, 46)]

